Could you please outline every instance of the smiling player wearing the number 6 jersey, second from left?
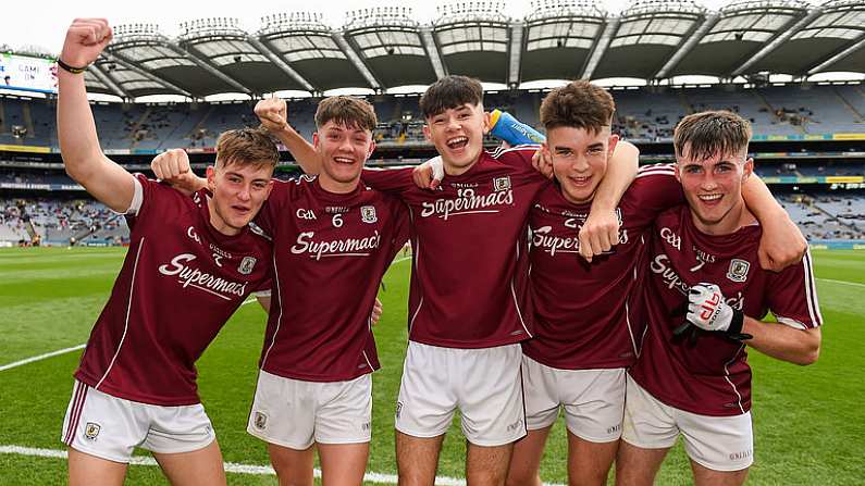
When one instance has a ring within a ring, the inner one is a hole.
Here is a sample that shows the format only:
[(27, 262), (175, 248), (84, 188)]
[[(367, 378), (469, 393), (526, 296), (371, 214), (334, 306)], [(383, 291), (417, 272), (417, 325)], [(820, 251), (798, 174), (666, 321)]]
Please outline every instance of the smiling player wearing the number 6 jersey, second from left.
[[(272, 134), (291, 129), (284, 101), (257, 113)], [(311, 486), (316, 449), (324, 485), (363, 481), (379, 369), (370, 312), (408, 238), (404, 204), (360, 184), (375, 123), (363, 100), (322, 100), (305, 146), (318, 176), (274, 180), (256, 219), (273, 239), (275, 292), (247, 431), (268, 443), (280, 484)], [(187, 166), (153, 169), (178, 187), (200, 184)]]

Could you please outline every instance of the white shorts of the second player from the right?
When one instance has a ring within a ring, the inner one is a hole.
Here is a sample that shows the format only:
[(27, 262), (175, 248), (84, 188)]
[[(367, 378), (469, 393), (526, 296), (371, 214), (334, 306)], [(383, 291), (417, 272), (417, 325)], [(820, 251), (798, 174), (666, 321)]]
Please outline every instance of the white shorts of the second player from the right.
[(625, 412), (625, 374), (623, 367), (560, 370), (523, 356), (526, 426), (530, 431), (546, 428), (564, 408), (571, 434), (592, 443), (618, 440)]

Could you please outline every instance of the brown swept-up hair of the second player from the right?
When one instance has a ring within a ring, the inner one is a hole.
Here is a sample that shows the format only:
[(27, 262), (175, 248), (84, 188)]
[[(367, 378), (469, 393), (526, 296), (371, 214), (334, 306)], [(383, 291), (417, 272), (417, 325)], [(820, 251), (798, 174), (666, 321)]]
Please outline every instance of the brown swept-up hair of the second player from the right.
[(559, 126), (597, 134), (613, 124), (616, 102), (606, 89), (588, 80), (574, 80), (549, 91), (541, 103), (541, 123), (549, 130)]

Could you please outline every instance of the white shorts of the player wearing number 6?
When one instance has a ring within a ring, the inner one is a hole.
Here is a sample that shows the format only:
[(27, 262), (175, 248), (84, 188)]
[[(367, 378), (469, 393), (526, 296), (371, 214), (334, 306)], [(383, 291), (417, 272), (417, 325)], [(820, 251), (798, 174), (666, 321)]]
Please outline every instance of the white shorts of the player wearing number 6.
[(262, 370), (246, 431), (267, 443), (305, 450), (313, 443), (369, 443), (371, 428), (369, 374), (348, 382), (304, 382)]

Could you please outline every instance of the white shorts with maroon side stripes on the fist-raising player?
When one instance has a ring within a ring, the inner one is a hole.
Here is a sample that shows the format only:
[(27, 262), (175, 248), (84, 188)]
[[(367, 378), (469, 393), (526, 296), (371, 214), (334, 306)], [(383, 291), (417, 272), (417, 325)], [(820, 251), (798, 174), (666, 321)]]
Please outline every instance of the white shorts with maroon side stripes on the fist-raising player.
[(103, 394), (76, 379), (60, 439), (97, 458), (129, 462), (136, 447), (157, 453), (191, 452), (215, 438), (201, 403), (139, 403)]

